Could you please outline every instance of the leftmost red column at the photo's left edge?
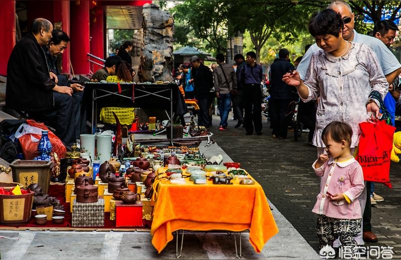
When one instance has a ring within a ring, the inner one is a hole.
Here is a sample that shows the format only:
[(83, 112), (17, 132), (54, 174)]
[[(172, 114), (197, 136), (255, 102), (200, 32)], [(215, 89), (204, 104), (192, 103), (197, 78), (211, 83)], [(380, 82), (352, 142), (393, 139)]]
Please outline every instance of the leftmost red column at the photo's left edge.
[(16, 1), (0, 0), (0, 75), (7, 75), (7, 63), (16, 44)]

